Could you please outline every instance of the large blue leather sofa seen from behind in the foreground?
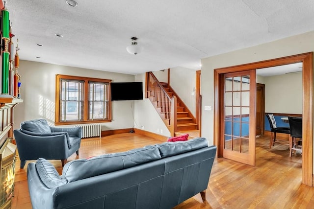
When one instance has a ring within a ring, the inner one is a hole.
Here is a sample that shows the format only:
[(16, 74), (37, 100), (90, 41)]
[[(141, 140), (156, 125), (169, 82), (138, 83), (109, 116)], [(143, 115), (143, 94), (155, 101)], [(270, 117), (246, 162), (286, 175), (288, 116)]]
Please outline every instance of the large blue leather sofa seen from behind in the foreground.
[(32, 207), (171, 209), (207, 189), (215, 153), (205, 138), (165, 142), (74, 160), (61, 176), (38, 159), (27, 167)]

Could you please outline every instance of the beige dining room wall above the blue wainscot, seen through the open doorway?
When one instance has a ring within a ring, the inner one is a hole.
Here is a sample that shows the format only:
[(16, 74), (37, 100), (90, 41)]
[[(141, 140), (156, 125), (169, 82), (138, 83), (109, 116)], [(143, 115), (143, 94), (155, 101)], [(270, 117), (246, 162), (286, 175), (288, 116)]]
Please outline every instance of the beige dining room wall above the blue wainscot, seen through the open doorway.
[(302, 114), (302, 72), (264, 77), (265, 112)]

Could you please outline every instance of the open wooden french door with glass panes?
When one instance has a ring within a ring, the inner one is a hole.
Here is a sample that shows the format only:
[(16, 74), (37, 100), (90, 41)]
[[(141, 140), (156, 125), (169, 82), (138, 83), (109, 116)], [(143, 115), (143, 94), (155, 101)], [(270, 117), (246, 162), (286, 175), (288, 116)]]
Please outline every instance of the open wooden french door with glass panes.
[(255, 166), (256, 70), (224, 73), (221, 78), (223, 157)]

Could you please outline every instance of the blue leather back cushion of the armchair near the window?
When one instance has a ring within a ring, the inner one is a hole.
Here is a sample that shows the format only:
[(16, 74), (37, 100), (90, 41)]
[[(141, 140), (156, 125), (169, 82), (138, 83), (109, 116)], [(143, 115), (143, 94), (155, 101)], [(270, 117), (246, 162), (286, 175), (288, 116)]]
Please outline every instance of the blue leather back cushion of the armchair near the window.
[(35, 133), (51, 133), (46, 119), (28, 120), (21, 123), (21, 131), (26, 130)]

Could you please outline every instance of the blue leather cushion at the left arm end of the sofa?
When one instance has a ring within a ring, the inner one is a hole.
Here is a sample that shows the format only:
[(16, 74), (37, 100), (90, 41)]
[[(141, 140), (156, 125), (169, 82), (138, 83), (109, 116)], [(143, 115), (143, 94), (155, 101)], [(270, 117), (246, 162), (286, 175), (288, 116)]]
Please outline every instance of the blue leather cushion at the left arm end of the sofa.
[(48, 188), (55, 188), (67, 184), (67, 181), (60, 178), (60, 175), (58, 174), (54, 166), (46, 159), (39, 158), (36, 161), (36, 170), (41, 181)]

